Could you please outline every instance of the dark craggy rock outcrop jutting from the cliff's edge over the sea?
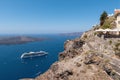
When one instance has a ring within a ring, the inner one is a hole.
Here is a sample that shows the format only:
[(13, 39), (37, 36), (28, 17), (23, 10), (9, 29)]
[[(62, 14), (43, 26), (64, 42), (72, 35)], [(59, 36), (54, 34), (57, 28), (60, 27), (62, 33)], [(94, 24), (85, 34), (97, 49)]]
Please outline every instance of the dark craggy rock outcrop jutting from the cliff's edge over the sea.
[(80, 55), (84, 43), (85, 42), (80, 39), (66, 41), (64, 46), (65, 50), (59, 54), (59, 60), (74, 58), (75, 56)]

